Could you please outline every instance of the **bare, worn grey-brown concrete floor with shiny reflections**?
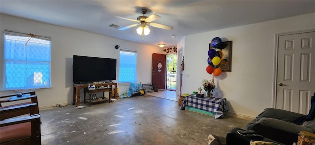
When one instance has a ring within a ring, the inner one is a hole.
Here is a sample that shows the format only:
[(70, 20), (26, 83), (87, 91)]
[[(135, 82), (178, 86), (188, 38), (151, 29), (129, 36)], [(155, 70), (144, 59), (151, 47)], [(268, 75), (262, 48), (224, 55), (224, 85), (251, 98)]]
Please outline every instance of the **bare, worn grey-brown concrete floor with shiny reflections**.
[(209, 134), (225, 137), (250, 122), (180, 110), (176, 101), (149, 95), (40, 114), (42, 145), (207, 145)]

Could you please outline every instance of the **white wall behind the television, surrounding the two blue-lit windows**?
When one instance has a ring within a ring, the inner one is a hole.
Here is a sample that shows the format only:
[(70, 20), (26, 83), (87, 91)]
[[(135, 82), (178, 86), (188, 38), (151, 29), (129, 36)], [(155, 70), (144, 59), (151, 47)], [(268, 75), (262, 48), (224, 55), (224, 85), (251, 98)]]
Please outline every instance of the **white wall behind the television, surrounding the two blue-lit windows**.
[[(152, 80), (152, 53), (162, 53), (163, 49), (129, 42), (108, 36), (98, 35), (62, 26), (39, 23), (32, 20), (17, 18), (0, 14), (0, 87), (3, 82), (3, 31), (4, 29), (33, 33), (35, 35), (50, 36), (52, 41), (51, 53), (51, 89), (36, 90), (40, 107), (54, 106), (56, 104), (72, 103), (72, 63), (73, 55), (84, 55), (93, 57), (116, 58), (119, 62), (119, 49), (121, 48), (137, 51), (137, 77), (138, 82), (151, 83)], [(119, 64), (118, 64), (119, 65)], [(118, 78), (119, 66), (117, 67)], [(118, 80), (118, 79), (117, 79)], [(129, 86), (119, 87), (119, 91), (126, 92)], [(82, 92), (82, 91), (81, 91)], [(0, 91), (0, 95), (18, 93), (14, 91)], [(81, 93), (81, 102), (83, 101)]]

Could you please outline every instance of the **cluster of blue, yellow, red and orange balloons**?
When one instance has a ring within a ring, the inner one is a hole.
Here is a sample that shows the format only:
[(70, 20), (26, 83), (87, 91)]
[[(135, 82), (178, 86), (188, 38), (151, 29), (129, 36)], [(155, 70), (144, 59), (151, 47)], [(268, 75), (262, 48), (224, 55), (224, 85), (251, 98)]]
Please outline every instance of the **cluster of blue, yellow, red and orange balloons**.
[[(219, 37), (215, 37), (212, 39), (211, 41), (211, 46), (213, 48), (208, 50), (208, 64), (209, 66), (206, 68), (207, 73), (212, 74), (214, 76), (219, 76), (222, 73), (222, 70), (220, 68), (216, 68), (216, 66), (218, 66), (221, 62), (221, 58), (220, 58), (220, 52), (221, 51), (216, 51), (217, 48), (220, 49), (221, 46), (221, 38)], [(216, 49), (214, 49), (216, 48)]]

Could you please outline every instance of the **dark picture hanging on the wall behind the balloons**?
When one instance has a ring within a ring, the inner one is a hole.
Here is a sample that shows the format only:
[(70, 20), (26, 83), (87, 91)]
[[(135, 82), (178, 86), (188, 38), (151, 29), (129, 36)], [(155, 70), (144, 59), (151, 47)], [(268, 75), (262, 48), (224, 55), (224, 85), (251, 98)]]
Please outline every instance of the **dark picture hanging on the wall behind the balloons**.
[[(209, 49), (212, 46), (209, 44)], [(214, 48), (217, 51), (217, 54), (220, 55), (221, 62), (214, 68), (220, 68), (222, 72), (232, 72), (232, 41), (221, 42), (219, 48)]]

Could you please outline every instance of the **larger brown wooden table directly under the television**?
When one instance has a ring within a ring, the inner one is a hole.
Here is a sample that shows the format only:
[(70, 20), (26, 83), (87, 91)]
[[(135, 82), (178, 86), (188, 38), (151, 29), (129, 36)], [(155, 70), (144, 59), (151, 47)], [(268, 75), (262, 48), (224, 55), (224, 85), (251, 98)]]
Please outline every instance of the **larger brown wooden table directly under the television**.
[[(93, 84), (91, 83), (90, 86), (95, 85), (95, 87), (101, 87), (101, 86), (110, 86), (110, 88), (113, 88), (114, 86), (114, 98), (117, 97), (117, 83), (98, 83)], [(80, 90), (84, 88), (88, 88), (89, 84), (73, 84), (73, 97), (72, 97), (72, 105), (77, 104), (77, 106), (80, 106)]]

